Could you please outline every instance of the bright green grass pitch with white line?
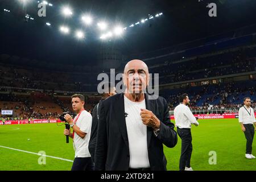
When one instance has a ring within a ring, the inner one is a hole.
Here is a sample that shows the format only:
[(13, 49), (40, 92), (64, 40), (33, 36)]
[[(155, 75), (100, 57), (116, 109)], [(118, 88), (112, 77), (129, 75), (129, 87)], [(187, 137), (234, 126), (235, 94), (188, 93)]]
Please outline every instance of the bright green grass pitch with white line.
[[(199, 127), (192, 126), (193, 152), (191, 167), (201, 170), (256, 170), (256, 159), (245, 158), (246, 140), (237, 119), (201, 119)], [(64, 126), (56, 123), (31, 125), (1, 125), (0, 146), (16, 148), (73, 160), (72, 140), (65, 143)], [(30, 140), (28, 140), (30, 139)], [(174, 148), (164, 147), (168, 171), (179, 170), (181, 140)], [(216, 152), (216, 164), (209, 164), (210, 151)], [(256, 155), (256, 142), (253, 143)], [(38, 164), (39, 155), (0, 147), (0, 170), (70, 170), (72, 162), (46, 158)]]

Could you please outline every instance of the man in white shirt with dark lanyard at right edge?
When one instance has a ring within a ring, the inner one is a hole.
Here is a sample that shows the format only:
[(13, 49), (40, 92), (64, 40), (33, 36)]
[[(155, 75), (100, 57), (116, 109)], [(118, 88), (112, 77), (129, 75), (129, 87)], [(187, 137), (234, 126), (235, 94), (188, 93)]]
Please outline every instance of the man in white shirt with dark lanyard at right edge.
[[(245, 157), (247, 159), (255, 159), (255, 156), (251, 154), (253, 150), (253, 137), (254, 137), (254, 130), (256, 130), (256, 121), (253, 108), (250, 107), (251, 99), (250, 97), (243, 98), (243, 106), (239, 109), (239, 117), (238, 121), (241, 124), (241, 128), (243, 133), (245, 134), (246, 142), (246, 154)], [(255, 126), (255, 129), (253, 127)]]

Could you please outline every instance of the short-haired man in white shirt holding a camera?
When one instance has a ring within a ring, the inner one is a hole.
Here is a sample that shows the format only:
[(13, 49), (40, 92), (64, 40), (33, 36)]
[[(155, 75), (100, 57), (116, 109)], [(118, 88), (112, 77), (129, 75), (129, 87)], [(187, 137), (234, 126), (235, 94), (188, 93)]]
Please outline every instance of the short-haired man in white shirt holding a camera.
[(73, 138), (75, 159), (71, 171), (92, 171), (93, 164), (88, 150), (90, 131), (92, 127), (92, 115), (84, 110), (84, 96), (75, 94), (72, 97), (72, 108), (77, 114), (74, 119), (65, 114), (65, 121), (72, 127), (73, 133), (65, 129), (64, 135)]

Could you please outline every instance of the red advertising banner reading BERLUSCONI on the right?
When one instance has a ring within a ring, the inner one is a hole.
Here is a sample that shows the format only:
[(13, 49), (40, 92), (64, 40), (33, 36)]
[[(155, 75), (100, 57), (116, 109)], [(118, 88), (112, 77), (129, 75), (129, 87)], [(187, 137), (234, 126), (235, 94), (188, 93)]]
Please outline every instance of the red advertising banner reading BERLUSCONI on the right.
[[(256, 116), (256, 112), (254, 113)], [(225, 114), (194, 114), (199, 119), (231, 119), (238, 118), (238, 113), (225, 113)], [(174, 115), (171, 115), (171, 120), (174, 119)]]

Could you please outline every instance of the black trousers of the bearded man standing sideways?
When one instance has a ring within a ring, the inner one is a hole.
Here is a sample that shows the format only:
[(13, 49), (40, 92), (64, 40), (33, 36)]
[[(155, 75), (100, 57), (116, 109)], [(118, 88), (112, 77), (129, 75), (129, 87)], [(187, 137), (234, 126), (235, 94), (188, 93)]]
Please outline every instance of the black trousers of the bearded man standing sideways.
[(190, 166), (192, 155), (192, 135), (191, 129), (179, 129), (177, 127), (177, 134), (181, 138), (181, 155), (180, 155), (180, 171), (184, 171), (185, 167)]

